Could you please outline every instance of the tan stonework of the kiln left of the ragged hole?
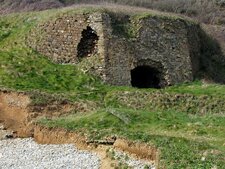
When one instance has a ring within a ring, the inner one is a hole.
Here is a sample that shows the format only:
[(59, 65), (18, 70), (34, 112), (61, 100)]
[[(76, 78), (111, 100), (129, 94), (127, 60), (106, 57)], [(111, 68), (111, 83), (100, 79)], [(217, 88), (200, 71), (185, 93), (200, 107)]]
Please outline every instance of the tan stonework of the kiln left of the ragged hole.
[[(62, 16), (39, 25), (42, 31), (40, 43), (31, 41), (29, 44), (57, 63), (76, 63), (77, 45), (87, 25), (85, 15)], [(34, 36), (37, 36), (36, 32)]]

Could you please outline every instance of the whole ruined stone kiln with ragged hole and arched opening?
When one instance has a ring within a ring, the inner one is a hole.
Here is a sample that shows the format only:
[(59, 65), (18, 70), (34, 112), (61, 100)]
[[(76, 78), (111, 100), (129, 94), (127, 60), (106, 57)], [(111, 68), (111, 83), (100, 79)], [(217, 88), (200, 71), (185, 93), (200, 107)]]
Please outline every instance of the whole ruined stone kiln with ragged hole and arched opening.
[(161, 14), (62, 14), (32, 30), (27, 44), (112, 85), (160, 88), (192, 81), (199, 26)]

